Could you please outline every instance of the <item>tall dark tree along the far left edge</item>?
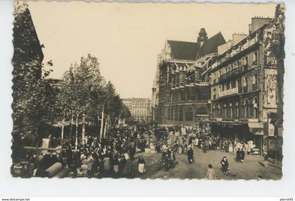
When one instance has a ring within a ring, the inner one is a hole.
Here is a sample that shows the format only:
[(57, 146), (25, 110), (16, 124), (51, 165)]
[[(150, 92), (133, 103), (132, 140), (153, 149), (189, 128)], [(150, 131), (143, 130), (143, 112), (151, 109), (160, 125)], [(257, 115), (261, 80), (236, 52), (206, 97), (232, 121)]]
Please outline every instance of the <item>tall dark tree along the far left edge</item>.
[[(46, 97), (48, 84), (42, 79), (45, 65), (34, 23), (27, 4), (14, 2), (13, 21), (13, 134), (36, 139), (41, 122), (46, 121), (50, 101)], [(46, 63), (52, 66), (52, 61)], [(44, 72), (44, 77), (52, 70)], [(50, 97), (53, 94), (50, 94)], [(29, 145), (36, 145), (34, 140)]]

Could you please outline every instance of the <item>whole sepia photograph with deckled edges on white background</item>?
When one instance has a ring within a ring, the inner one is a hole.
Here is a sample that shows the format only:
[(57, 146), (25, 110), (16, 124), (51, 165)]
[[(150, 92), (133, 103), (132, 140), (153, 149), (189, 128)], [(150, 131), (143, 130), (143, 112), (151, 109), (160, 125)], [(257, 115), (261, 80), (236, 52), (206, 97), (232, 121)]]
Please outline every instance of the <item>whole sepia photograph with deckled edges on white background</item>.
[(13, 9), (12, 177), (284, 177), (284, 3)]

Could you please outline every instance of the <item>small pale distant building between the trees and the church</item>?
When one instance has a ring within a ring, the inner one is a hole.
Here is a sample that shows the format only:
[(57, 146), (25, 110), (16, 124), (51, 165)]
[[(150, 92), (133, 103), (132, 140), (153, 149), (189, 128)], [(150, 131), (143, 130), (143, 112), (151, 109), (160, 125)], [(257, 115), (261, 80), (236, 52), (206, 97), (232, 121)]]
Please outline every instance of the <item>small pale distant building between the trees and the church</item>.
[(150, 121), (151, 104), (150, 98), (122, 98), (124, 105), (129, 108), (135, 121)]

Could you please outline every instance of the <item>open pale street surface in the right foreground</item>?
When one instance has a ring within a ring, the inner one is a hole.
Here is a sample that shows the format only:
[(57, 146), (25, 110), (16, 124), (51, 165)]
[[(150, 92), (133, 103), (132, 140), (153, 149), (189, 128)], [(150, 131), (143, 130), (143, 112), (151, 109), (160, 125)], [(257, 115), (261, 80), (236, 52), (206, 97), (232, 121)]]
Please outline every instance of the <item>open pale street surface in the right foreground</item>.
[[(160, 153), (137, 153), (133, 161), (133, 168), (136, 167), (138, 157), (142, 155), (146, 163), (146, 173), (139, 174), (137, 169), (134, 177), (141, 179), (205, 179), (208, 164), (212, 164), (217, 179), (280, 179), (282, 170), (270, 164), (270, 167), (263, 167), (263, 157), (259, 155), (247, 155), (243, 163), (235, 162), (235, 154), (223, 153), (219, 150), (210, 150), (203, 153), (201, 149), (194, 148), (195, 162), (188, 164), (185, 154), (176, 154), (176, 166), (174, 169), (164, 171), (157, 170), (157, 162), (161, 157)], [(223, 156), (228, 157), (230, 174), (223, 175), (220, 161)]]

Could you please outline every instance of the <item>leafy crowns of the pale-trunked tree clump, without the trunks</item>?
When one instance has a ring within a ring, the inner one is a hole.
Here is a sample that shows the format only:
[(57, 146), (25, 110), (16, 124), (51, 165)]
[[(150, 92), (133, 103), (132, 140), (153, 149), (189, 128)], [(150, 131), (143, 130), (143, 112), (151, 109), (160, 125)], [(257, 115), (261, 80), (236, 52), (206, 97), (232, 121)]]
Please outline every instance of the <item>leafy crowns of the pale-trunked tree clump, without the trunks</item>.
[(100, 74), (98, 59), (90, 54), (63, 74), (55, 108), (55, 122), (68, 121), (73, 114), (77, 121), (86, 115), (87, 122), (98, 124), (105, 114), (114, 124), (126, 112), (112, 82)]

